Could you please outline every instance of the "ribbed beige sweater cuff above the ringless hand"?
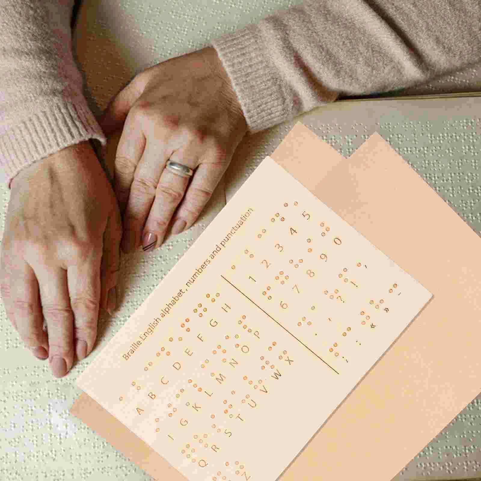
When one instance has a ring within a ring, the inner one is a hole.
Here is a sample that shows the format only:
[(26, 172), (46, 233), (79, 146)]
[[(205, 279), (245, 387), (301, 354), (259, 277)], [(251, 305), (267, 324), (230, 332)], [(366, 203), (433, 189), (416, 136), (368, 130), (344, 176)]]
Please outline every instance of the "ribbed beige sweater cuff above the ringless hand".
[(0, 136), (0, 164), (8, 188), (23, 168), (88, 139), (98, 139), (102, 145), (107, 143), (87, 101), (81, 97), (75, 101), (53, 99), (46, 108)]

